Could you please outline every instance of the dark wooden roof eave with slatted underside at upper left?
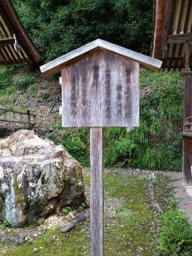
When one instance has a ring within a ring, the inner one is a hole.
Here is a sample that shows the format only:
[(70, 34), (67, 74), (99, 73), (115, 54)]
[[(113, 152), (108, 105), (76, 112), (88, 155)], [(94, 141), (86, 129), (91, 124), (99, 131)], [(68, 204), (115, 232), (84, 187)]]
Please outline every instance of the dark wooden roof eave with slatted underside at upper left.
[(0, 65), (34, 62), (40, 53), (20, 22), (10, 0), (0, 0)]

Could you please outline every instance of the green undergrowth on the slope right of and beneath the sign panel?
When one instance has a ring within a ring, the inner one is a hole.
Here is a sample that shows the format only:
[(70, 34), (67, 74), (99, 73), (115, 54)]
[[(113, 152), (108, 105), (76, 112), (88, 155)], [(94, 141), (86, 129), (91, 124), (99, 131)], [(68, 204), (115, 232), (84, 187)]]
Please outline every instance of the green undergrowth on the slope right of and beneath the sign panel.
[[(104, 166), (181, 170), (182, 90), (178, 72), (140, 72), (140, 125), (104, 128)], [(89, 165), (89, 129), (65, 129), (62, 144)]]

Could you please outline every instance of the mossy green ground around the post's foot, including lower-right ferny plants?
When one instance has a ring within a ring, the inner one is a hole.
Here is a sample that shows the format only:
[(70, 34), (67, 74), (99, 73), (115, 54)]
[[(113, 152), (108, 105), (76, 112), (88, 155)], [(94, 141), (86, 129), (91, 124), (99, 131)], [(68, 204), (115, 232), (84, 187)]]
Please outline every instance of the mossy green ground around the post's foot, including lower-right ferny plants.
[[(83, 174), (83, 179), (88, 192), (88, 172)], [(178, 212), (178, 200), (174, 197), (170, 178), (160, 174), (151, 181), (162, 214), (152, 208), (146, 178), (121, 174), (118, 170), (104, 174), (104, 255), (191, 255), (191, 225), (187, 216)], [(68, 210), (66, 208), (64, 213)], [(5, 246), (1, 244), (0, 251), (3, 252)], [(61, 234), (58, 227), (53, 227), (17, 249), (7, 248), (5, 255), (85, 254), (90, 255), (88, 221), (68, 234)]]

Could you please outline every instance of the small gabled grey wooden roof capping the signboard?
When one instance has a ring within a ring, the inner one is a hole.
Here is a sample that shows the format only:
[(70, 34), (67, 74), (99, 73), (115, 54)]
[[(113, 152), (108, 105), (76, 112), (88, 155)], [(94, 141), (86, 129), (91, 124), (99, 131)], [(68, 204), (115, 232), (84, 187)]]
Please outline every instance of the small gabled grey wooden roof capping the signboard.
[(162, 64), (162, 62), (158, 59), (154, 59), (141, 53), (134, 52), (133, 50), (118, 46), (116, 44), (97, 39), (95, 41), (92, 41), (91, 43), (85, 44), (85, 46), (82, 46), (57, 59), (54, 59), (47, 64), (44, 64), (40, 67), (41, 72), (47, 76), (51, 76), (55, 73), (58, 73), (66, 64), (69, 64), (72, 61), (74, 62), (75, 59), (79, 59), (80, 56), (83, 57), (84, 55), (86, 55), (86, 53), (92, 52), (96, 49), (107, 50), (125, 58), (129, 58), (133, 61), (139, 62), (141, 67), (152, 70), (154, 72), (158, 72)]

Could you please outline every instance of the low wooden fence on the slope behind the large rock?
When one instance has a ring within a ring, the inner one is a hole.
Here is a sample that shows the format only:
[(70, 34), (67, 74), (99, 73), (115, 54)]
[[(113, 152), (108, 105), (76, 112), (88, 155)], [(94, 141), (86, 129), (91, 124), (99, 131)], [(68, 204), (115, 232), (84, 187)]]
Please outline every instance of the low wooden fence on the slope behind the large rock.
[(0, 121), (7, 123), (28, 124), (30, 128), (36, 124), (36, 115), (32, 114), (30, 110), (20, 112), (0, 108)]

